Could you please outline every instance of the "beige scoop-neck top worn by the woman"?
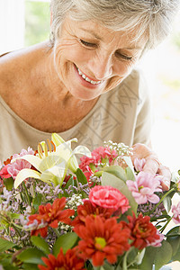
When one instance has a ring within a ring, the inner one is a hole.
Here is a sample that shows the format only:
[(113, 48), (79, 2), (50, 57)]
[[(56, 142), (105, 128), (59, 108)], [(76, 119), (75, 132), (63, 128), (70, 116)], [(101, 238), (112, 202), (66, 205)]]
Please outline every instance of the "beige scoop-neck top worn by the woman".
[[(151, 126), (147, 86), (139, 72), (133, 70), (121, 85), (102, 94), (94, 108), (76, 126), (59, 133), (67, 140), (76, 137), (78, 144), (93, 149), (104, 140), (149, 143)], [(36, 149), (50, 133), (32, 128), (16, 115), (0, 97), (0, 160), (4, 161), (22, 148)]]

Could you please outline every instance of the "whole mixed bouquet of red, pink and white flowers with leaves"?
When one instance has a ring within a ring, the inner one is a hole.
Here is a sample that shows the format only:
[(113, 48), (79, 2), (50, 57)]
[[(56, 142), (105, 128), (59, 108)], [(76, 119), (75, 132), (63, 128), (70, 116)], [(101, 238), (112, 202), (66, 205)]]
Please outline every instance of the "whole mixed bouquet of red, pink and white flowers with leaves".
[(165, 192), (162, 176), (144, 173), (145, 159), (132, 165), (124, 144), (91, 153), (72, 142), (53, 133), (1, 165), (0, 268), (157, 270), (180, 261), (180, 202), (171, 205), (179, 175)]

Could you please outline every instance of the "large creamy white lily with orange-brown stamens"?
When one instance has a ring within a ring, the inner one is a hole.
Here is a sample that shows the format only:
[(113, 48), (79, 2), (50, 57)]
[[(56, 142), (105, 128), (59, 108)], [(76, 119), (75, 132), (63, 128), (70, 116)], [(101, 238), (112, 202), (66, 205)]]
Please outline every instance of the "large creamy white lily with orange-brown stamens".
[[(73, 173), (76, 173), (78, 163), (75, 154), (82, 154), (91, 157), (91, 152), (84, 146), (77, 146), (74, 150), (71, 148), (71, 142), (77, 139), (69, 139), (65, 141), (58, 134), (52, 134), (51, 143), (54, 145), (54, 151), (51, 150), (50, 142), (48, 141), (49, 150), (45, 141), (41, 141), (38, 146), (38, 156), (25, 155), (19, 157), (31, 163), (38, 171), (24, 168), (19, 172), (14, 181), (14, 188), (22, 184), (23, 180), (29, 177), (40, 179), (48, 184), (62, 184), (69, 168)], [(43, 151), (42, 151), (42, 149)], [(14, 160), (13, 160), (14, 161)]]

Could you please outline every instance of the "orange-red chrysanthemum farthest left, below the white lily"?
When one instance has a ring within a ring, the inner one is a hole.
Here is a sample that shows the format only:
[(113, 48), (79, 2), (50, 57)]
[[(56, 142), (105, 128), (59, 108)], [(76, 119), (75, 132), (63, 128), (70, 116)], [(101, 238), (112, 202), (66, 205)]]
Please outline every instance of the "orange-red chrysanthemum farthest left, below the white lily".
[[(31, 235), (40, 234), (41, 237), (46, 237), (48, 232), (48, 226), (52, 228), (58, 228), (58, 222), (64, 222), (70, 224), (71, 220), (69, 216), (75, 214), (74, 210), (64, 210), (66, 205), (66, 198), (62, 197), (61, 199), (56, 199), (52, 204), (47, 203), (46, 205), (39, 206), (39, 214), (33, 214), (29, 217), (29, 222), (27, 225), (30, 225), (34, 220), (38, 221), (37, 229), (31, 231)], [(40, 223), (43, 222), (46, 226), (43, 228), (38, 228)]]

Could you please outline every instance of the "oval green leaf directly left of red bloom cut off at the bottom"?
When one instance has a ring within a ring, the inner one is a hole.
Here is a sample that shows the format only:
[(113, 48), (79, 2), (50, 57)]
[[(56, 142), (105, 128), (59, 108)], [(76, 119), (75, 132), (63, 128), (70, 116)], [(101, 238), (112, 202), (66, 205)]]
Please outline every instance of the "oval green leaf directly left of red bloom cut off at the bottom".
[(36, 247), (27, 248), (17, 255), (17, 258), (23, 263), (34, 265), (43, 264), (41, 257), (45, 257), (45, 254)]

